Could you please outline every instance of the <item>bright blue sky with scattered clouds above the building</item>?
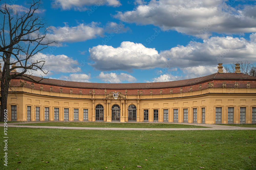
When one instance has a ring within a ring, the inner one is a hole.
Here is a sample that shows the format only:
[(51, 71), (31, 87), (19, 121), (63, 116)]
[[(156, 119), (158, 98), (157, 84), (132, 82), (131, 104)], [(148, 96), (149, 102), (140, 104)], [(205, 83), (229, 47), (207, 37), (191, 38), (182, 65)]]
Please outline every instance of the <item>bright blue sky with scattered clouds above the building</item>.
[(42, 9), (47, 37), (58, 41), (36, 56), (49, 66), (44, 77), (162, 82), (215, 73), (218, 63), (256, 62), (255, 0), (45, 0)]

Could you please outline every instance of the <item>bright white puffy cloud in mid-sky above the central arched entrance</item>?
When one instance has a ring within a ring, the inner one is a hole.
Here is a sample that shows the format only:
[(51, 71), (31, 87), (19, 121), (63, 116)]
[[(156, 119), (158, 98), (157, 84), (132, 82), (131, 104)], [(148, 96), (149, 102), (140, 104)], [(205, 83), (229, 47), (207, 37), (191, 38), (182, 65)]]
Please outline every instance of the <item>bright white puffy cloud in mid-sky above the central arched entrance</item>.
[(155, 48), (140, 43), (124, 41), (120, 47), (98, 45), (89, 49), (92, 66), (101, 71), (151, 69), (165, 66), (166, 58), (159, 56)]

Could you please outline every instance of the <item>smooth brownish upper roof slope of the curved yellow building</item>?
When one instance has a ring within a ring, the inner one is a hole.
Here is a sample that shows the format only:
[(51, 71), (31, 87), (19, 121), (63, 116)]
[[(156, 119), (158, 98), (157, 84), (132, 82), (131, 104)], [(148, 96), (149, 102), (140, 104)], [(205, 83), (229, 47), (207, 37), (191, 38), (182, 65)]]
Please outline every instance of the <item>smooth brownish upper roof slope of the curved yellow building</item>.
[[(32, 79), (39, 81), (41, 77), (32, 76)], [(29, 80), (26, 77), (17, 77), (16, 79)], [(192, 86), (195, 84), (200, 84), (202, 82), (207, 82), (210, 80), (255, 80), (256, 77), (249, 76), (247, 74), (237, 74), (237, 73), (214, 73), (211, 75), (197, 77), (193, 79), (170, 81), (170, 82), (155, 82), (155, 83), (85, 83), (85, 82), (71, 82), (56, 79), (43, 79), (39, 84), (45, 85), (55, 85), (70, 88), (95, 88), (95, 89), (152, 89), (152, 88), (173, 88), (173, 87), (183, 87)], [(193, 89), (194, 90), (194, 89)], [(184, 91), (184, 89), (183, 89)]]

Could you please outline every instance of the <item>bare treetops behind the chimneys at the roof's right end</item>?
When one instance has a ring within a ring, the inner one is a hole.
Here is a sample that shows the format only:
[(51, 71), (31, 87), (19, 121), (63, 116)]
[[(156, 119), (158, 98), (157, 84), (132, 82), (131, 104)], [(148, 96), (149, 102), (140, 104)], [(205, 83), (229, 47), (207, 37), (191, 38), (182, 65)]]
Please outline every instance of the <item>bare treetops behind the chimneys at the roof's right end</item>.
[(232, 62), (228, 65), (223, 65), (224, 69), (223, 71), (226, 73), (234, 73), (235, 72), (235, 64), (240, 64), (240, 70), (241, 73), (256, 77), (256, 65), (255, 63), (251, 63), (249, 61), (236, 61), (236, 62)]

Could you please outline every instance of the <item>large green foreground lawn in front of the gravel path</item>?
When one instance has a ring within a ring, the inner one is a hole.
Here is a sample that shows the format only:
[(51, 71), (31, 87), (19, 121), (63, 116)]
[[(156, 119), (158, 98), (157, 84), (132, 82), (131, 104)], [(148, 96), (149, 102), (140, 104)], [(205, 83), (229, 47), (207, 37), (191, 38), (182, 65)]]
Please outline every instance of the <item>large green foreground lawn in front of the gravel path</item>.
[(256, 169), (255, 132), (8, 127), (8, 169)]

